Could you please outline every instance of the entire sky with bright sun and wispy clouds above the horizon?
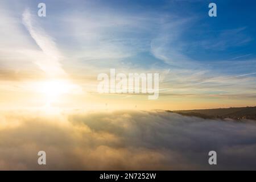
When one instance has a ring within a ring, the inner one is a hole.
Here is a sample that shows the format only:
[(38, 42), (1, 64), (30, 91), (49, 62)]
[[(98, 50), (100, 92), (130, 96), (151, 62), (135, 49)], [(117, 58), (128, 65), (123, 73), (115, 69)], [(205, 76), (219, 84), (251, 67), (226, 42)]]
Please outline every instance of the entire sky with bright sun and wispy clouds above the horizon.
[[(38, 3), (46, 3), (46, 17)], [(208, 5), (217, 5), (217, 17)], [(254, 1), (1, 1), (1, 109), (255, 106)], [(100, 73), (159, 73), (159, 98), (100, 94)]]

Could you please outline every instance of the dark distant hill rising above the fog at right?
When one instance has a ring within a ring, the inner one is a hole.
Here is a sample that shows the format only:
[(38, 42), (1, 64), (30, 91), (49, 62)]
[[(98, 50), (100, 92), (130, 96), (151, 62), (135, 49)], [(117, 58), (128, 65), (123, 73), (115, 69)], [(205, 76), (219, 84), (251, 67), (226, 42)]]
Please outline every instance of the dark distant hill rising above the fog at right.
[(225, 109), (199, 109), (199, 110), (174, 110), (168, 111), (200, 118), (232, 118), (232, 119), (254, 119), (256, 120), (256, 107), (230, 107)]

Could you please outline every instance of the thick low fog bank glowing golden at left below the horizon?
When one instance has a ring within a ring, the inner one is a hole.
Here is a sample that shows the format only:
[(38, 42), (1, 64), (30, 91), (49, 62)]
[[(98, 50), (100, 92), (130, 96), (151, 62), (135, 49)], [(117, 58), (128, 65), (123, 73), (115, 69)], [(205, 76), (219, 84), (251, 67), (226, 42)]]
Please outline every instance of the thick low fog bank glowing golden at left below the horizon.
[[(256, 169), (256, 125), (164, 111), (1, 113), (0, 169)], [(39, 166), (37, 152), (47, 152)]]

